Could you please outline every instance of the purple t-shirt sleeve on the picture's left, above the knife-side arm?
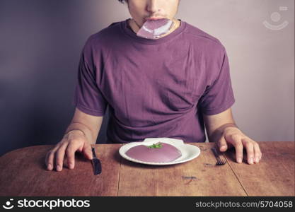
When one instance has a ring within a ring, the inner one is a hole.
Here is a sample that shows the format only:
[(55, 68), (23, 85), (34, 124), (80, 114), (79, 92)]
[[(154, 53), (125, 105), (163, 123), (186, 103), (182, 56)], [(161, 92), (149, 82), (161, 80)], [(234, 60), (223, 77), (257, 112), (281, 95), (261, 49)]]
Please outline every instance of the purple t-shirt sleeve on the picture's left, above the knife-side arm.
[(96, 83), (97, 71), (101, 71), (99, 64), (102, 61), (98, 61), (99, 57), (93, 57), (95, 54), (88, 38), (81, 52), (73, 105), (86, 114), (103, 116), (108, 102)]

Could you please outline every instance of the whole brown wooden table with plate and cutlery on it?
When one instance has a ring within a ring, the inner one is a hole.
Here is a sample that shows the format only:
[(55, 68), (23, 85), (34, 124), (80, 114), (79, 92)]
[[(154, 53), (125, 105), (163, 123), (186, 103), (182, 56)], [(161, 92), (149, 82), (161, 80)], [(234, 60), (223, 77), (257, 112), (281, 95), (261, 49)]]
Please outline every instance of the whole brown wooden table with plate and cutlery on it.
[(96, 144), (98, 176), (82, 155), (74, 170), (56, 172), (45, 169), (52, 146), (17, 149), (0, 158), (0, 196), (294, 196), (294, 142), (259, 142), (262, 160), (254, 165), (236, 163), (227, 151), (222, 166), (214, 165), (213, 143), (190, 144), (201, 149), (199, 157), (167, 166), (125, 160), (122, 144)]

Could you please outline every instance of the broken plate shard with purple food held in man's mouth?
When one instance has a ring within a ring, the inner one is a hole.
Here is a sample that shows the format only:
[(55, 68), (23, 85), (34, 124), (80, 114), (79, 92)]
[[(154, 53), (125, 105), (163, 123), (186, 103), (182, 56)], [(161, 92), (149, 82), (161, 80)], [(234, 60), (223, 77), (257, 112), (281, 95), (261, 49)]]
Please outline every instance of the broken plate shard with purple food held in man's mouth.
[(168, 33), (172, 28), (173, 20), (161, 18), (158, 20), (146, 20), (137, 32), (137, 36), (155, 39)]

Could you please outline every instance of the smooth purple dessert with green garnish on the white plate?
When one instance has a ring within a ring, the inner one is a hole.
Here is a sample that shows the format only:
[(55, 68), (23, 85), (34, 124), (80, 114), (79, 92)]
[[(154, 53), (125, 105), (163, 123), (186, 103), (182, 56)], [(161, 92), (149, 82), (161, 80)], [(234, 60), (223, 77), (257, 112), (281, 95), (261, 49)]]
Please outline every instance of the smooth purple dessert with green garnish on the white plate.
[(154, 143), (151, 146), (138, 145), (125, 153), (129, 158), (149, 163), (168, 163), (182, 155), (175, 146), (169, 143)]

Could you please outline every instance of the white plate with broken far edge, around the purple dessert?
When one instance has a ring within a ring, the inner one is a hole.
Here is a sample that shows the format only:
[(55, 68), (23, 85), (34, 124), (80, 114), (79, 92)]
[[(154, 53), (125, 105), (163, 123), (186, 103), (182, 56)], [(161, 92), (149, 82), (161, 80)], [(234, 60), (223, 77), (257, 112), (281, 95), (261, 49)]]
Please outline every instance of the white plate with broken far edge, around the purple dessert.
[[(125, 153), (129, 150), (129, 148), (132, 148), (134, 146), (138, 145), (152, 145), (157, 142), (163, 142), (163, 143), (169, 143), (170, 145), (175, 146), (178, 148), (178, 150), (181, 152), (181, 157), (177, 158), (176, 160), (173, 160), (171, 162), (166, 162), (166, 163), (154, 163), (154, 162), (146, 162), (146, 161), (141, 161), (141, 160), (135, 160), (134, 158), (129, 158)], [(131, 142), (127, 143), (124, 146), (121, 146), (119, 149), (120, 155), (130, 161), (133, 161), (135, 163), (143, 163), (143, 164), (149, 164), (149, 165), (171, 165), (171, 164), (177, 164), (177, 163), (184, 163), (187, 161), (190, 161), (192, 159), (197, 158), (199, 156), (199, 153), (201, 151), (197, 146), (193, 146), (190, 144), (183, 143), (183, 140), (180, 139), (170, 139), (170, 138), (148, 138), (144, 139), (142, 142)]]

